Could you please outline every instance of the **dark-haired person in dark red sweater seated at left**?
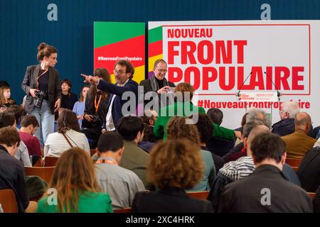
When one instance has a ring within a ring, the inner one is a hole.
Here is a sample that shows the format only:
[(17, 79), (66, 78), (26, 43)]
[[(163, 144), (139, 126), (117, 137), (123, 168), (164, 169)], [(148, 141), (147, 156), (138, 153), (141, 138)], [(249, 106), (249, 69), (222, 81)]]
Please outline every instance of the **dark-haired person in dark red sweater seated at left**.
[(29, 155), (41, 157), (41, 147), (38, 138), (33, 136), (39, 128), (36, 116), (26, 115), (22, 118), (21, 128), (19, 131), (20, 138), (28, 148)]

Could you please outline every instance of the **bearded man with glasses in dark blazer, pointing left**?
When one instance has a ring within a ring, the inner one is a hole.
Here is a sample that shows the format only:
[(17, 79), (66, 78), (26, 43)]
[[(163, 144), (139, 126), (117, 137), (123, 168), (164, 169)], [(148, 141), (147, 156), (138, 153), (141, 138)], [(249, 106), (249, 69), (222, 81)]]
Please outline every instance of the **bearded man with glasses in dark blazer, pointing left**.
[[(138, 84), (132, 80), (133, 75), (134, 67), (126, 60), (119, 60), (114, 65), (114, 77), (116, 84), (105, 82), (104, 80), (99, 79), (99, 77), (82, 74), (82, 77), (85, 77), (85, 82), (97, 84), (97, 89), (110, 93), (109, 101), (107, 103), (108, 111), (105, 118), (105, 129), (107, 131), (115, 131), (117, 122), (125, 115), (125, 113), (122, 113), (122, 106), (127, 102), (127, 98), (122, 100), (124, 92), (127, 92), (130, 97), (130, 104), (134, 104), (134, 106), (129, 105), (129, 108), (125, 110), (128, 114), (136, 114), (138, 105)], [(134, 100), (132, 100), (133, 96)]]

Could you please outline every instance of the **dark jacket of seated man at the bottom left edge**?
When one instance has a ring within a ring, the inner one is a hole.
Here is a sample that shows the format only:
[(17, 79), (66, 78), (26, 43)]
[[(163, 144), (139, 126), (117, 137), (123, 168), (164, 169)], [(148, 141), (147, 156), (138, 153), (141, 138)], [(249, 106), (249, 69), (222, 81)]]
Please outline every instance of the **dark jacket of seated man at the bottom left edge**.
[(23, 165), (2, 146), (0, 146), (0, 189), (14, 191), (19, 212), (28, 207), (29, 198)]

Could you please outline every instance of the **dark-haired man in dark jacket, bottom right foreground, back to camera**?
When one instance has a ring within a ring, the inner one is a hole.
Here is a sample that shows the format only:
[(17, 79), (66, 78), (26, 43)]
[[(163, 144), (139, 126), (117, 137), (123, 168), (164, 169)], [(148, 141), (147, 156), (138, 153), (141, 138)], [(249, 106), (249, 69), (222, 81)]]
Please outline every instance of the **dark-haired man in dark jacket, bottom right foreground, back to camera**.
[(285, 144), (278, 135), (262, 133), (250, 144), (256, 170), (228, 184), (221, 195), (220, 212), (312, 212), (311, 198), (282, 173)]

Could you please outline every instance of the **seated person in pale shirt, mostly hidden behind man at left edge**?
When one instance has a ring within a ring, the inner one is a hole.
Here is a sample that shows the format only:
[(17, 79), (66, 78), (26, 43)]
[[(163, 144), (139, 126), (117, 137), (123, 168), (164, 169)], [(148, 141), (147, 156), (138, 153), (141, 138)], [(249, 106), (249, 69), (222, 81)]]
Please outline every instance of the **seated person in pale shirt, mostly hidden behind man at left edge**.
[[(14, 114), (9, 113), (0, 113), (0, 128), (6, 127), (6, 126), (13, 126), (16, 130), (16, 119), (14, 118)], [(17, 160), (20, 160), (24, 166), (31, 167), (31, 161), (28, 153), (28, 148), (26, 145), (21, 141), (18, 145), (18, 150), (16, 152)]]

